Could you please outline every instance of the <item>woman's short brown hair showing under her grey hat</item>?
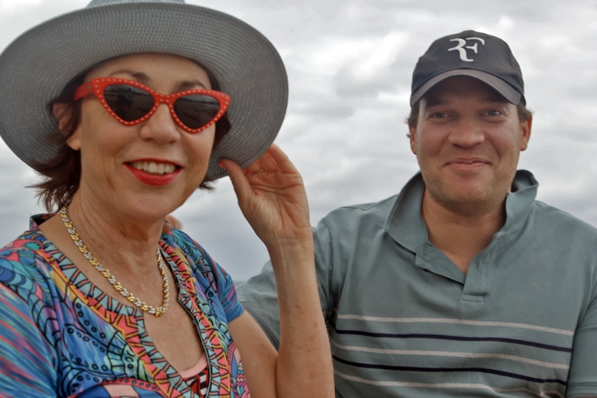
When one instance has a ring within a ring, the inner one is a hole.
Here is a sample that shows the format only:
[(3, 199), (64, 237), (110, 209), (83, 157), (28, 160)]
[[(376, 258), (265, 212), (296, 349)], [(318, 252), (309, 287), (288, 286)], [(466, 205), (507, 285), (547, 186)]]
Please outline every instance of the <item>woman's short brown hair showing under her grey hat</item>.
[[(200, 64), (199, 64), (200, 65)], [(202, 65), (200, 65), (202, 66)], [(213, 74), (206, 69), (209, 82), (213, 90), (219, 90), (220, 84), (217, 82)], [(33, 168), (44, 178), (41, 182), (31, 185), (31, 188), (37, 190), (36, 196), (48, 212), (55, 212), (56, 210), (67, 206), (75, 192), (79, 189), (81, 179), (81, 154), (79, 151), (73, 150), (66, 143), (77, 129), (81, 118), (81, 101), (73, 100), (73, 96), (77, 87), (84, 81), (84, 76), (87, 73), (82, 73), (78, 77), (71, 80), (60, 96), (57, 96), (48, 104), (48, 112), (53, 116), (53, 107), (55, 104), (69, 105), (71, 117), (64, 127), (64, 132), (57, 130), (56, 137), (60, 137), (60, 149), (57, 154), (48, 161), (39, 162)], [(230, 131), (232, 125), (227, 114), (224, 114), (220, 120), (215, 123), (215, 138), (213, 141), (212, 150), (222, 141), (222, 138)], [(213, 186), (209, 183), (211, 180), (207, 177), (199, 185), (199, 188), (204, 190), (213, 190)]]

